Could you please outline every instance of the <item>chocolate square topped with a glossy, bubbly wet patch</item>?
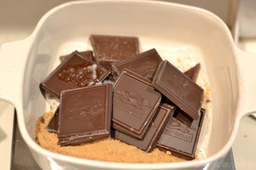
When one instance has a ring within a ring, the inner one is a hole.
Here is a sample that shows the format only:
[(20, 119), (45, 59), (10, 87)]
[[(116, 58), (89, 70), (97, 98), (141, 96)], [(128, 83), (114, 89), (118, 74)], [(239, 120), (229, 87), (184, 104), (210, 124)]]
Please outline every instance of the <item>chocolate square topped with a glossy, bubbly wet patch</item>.
[(61, 91), (100, 84), (108, 74), (108, 69), (74, 51), (41, 82), (40, 87), (59, 99)]

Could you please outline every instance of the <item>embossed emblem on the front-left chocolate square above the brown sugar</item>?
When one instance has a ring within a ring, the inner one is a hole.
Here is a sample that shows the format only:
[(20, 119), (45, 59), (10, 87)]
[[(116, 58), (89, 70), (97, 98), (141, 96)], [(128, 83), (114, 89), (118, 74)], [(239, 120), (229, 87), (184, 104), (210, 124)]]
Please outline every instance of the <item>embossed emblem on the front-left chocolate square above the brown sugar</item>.
[(64, 117), (68, 119), (83, 120), (96, 116), (102, 111), (104, 111), (102, 108), (102, 99), (90, 99), (76, 103), (69, 103), (67, 105), (67, 113), (70, 114)]

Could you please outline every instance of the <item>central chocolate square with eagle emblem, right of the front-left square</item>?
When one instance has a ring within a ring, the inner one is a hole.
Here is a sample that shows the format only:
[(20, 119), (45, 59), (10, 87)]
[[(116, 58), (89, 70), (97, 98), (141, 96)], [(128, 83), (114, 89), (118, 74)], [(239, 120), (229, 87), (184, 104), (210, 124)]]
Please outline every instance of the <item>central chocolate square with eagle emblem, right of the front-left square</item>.
[(113, 85), (113, 127), (136, 139), (143, 139), (160, 104), (161, 94), (150, 81), (128, 69)]

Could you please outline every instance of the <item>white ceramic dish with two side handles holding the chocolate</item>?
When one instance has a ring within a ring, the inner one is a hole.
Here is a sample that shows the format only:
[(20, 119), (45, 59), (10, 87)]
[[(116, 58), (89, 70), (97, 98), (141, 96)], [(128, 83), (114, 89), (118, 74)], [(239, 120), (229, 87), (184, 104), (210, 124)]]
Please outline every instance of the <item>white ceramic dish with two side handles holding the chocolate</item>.
[[(161, 164), (113, 163), (52, 153), (35, 143), (36, 119), (49, 111), (50, 105), (41, 94), (40, 82), (58, 65), (56, 56), (90, 48), (90, 34), (137, 36), (143, 50), (193, 50), (195, 60), (207, 70), (212, 90), (207, 158)], [(237, 48), (227, 26), (209, 11), (144, 0), (75, 1), (45, 14), (28, 38), (2, 45), (0, 99), (15, 106), (20, 132), (42, 169), (217, 169), (235, 139), (241, 118), (256, 112), (255, 62), (256, 55)]]

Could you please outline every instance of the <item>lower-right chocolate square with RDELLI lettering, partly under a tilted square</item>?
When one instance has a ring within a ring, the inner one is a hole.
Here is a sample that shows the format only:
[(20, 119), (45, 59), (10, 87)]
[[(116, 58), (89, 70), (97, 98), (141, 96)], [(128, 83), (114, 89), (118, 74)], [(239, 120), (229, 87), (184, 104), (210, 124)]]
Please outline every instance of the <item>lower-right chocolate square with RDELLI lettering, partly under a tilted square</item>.
[(180, 156), (188, 160), (195, 159), (195, 150), (198, 144), (204, 114), (205, 109), (201, 108), (199, 119), (193, 120), (177, 108), (163, 131), (157, 147), (163, 151), (170, 151), (175, 156)]

